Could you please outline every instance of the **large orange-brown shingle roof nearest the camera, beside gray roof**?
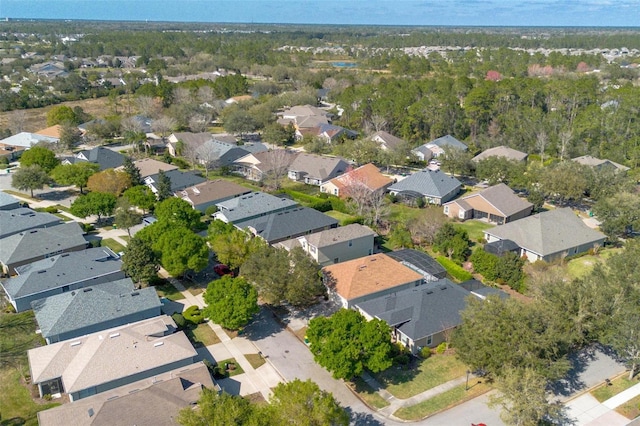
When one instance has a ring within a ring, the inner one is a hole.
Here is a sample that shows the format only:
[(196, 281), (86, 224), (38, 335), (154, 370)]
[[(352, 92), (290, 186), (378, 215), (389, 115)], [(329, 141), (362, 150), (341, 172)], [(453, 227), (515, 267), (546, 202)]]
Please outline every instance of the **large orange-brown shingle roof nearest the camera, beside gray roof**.
[(346, 300), (422, 279), (419, 273), (382, 253), (326, 266), (322, 271), (333, 281), (333, 290)]

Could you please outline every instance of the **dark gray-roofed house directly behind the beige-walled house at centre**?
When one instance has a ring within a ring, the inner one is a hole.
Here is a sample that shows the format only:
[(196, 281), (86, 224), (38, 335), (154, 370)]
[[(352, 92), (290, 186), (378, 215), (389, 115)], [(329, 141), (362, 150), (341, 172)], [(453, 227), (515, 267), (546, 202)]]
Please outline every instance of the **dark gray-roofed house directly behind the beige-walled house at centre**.
[(338, 220), (309, 207), (296, 207), (233, 223), (269, 244), (336, 228)]

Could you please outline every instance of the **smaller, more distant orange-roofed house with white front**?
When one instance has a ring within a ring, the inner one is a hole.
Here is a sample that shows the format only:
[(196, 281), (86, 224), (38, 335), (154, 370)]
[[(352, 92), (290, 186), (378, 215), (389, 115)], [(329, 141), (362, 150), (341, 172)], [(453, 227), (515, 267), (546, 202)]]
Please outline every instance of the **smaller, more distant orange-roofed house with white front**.
[(384, 194), (391, 184), (393, 179), (383, 175), (374, 164), (369, 163), (324, 182), (320, 185), (320, 192), (349, 198), (362, 190)]

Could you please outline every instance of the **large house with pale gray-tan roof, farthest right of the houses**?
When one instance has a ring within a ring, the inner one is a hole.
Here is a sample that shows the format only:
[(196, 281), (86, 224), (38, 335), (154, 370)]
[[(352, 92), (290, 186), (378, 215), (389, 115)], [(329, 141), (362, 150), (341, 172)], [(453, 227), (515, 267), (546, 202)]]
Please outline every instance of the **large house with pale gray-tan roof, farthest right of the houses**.
[(538, 213), (484, 231), (489, 243), (511, 240), (531, 262), (553, 261), (604, 244), (605, 235), (589, 228), (570, 208)]

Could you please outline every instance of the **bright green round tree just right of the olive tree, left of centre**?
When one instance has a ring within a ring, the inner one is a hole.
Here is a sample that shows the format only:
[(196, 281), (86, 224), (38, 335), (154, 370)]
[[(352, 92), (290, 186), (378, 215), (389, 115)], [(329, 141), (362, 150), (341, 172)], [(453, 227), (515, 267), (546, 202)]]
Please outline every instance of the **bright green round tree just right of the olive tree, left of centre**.
[(160, 264), (167, 272), (179, 277), (187, 270), (198, 272), (207, 266), (209, 248), (204, 238), (185, 227), (158, 222), (168, 229), (153, 243), (153, 249), (160, 253)]

